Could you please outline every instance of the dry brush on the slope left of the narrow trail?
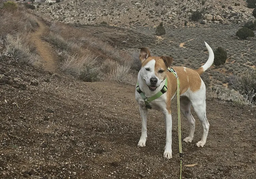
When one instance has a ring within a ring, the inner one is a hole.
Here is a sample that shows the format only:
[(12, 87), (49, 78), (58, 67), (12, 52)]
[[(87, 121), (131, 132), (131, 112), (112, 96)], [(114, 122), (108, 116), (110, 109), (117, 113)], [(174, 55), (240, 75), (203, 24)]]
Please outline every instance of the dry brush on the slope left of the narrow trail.
[(16, 3), (13, 5), (13, 2), (7, 1), (3, 3), (4, 8), (0, 10), (0, 37), (4, 42), (1, 59), (8, 62), (34, 64), (40, 58), (36, 54), (30, 32), (34, 31), (38, 24), (22, 8), (10, 8), (15, 6), (17, 6)]

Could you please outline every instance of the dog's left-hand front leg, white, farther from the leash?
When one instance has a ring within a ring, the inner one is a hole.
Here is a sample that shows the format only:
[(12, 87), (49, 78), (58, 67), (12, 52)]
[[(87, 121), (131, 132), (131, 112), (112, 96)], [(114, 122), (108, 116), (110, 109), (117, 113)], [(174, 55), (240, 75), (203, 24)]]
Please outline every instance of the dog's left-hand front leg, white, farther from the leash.
[(141, 137), (138, 143), (139, 147), (146, 146), (147, 140), (147, 109), (140, 105), (140, 116), (141, 116)]

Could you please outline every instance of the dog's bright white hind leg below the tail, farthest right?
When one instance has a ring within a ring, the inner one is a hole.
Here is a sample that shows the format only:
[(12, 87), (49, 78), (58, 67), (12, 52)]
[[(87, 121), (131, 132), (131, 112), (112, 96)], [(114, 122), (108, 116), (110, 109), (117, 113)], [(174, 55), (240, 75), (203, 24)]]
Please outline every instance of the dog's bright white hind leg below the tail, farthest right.
[(196, 145), (198, 147), (203, 147), (204, 144), (206, 143), (206, 139), (207, 139), (208, 131), (209, 131), (209, 127), (210, 127), (210, 124), (209, 124), (209, 122), (206, 118), (205, 95), (204, 95), (203, 99), (200, 97), (200, 99), (198, 99), (197, 101), (192, 102), (192, 106), (194, 108), (194, 111), (197, 114), (197, 117), (198, 117), (199, 121), (202, 123), (202, 126), (203, 126), (202, 139)]

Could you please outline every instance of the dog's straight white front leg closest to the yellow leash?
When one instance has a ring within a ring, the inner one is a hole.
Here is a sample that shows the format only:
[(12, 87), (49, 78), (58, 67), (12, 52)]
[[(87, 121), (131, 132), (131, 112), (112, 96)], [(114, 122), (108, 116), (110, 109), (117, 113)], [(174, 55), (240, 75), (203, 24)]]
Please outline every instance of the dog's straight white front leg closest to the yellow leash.
[(163, 112), (165, 118), (165, 128), (166, 128), (166, 143), (165, 143), (165, 152), (163, 157), (167, 159), (172, 158), (172, 114), (171, 112)]

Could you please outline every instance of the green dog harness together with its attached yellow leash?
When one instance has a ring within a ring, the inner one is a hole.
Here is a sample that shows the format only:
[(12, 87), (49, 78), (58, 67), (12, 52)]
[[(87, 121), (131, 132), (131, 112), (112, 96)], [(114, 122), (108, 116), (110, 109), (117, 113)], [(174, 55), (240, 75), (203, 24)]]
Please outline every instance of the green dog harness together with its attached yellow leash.
[[(174, 74), (175, 78), (177, 79), (177, 106), (178, 106), (179, 150), (180, 150), (180, 159), (181, 159), (181, 168), (180, 168), (180, 179), (181, 179), (183, 154), (182, 154), (182, 145), (181, 145), (180, 80), (179, 80), (179, 77), (178, 77), (177, 73), (175, 72), (175, 70), (173, 70), (173, 68), (168, 68), (167, 70), (169, 72), (171, 72), (172, 74)], [(161, 89), (161, 91), (159, 91), (158, 93), (156, 93), (155, 95), (153, 95), (151, 97), (145, 97), (144, 93), (140, 90), (138, 82), (136, 84), (136, 90), (138, 91), (138, 93), (140, 93), (142, 99), (144, 100), (146, 108), (151, 109), (151, 106), (149, 103), (152, 102), (153, 100), (157, 99), (158, 97), (160, 97), (163, 93), (165, 93), (167, 91), (167, 78), (165, 80), (165, 85), (163, 85), (163, 88)]]

